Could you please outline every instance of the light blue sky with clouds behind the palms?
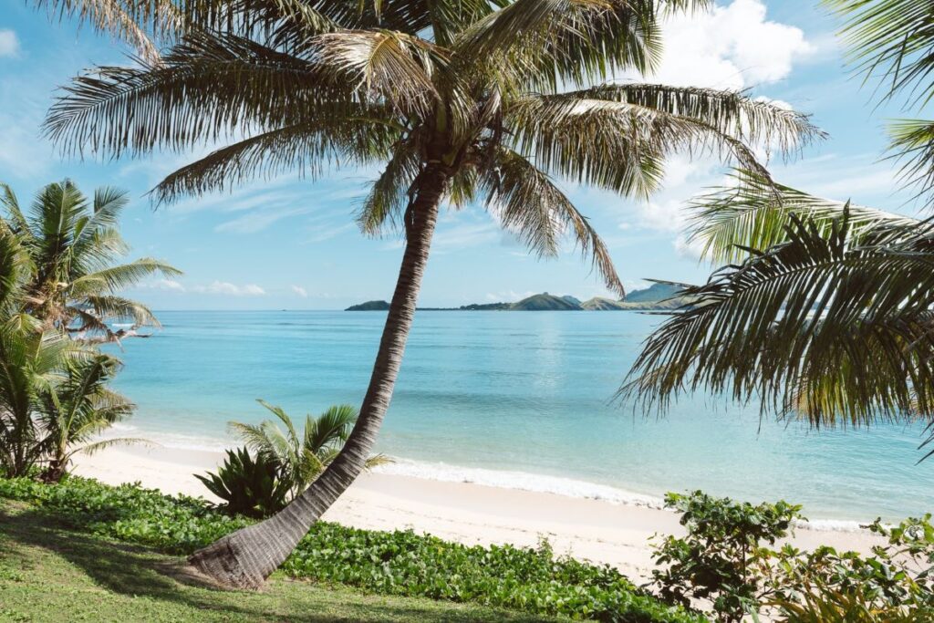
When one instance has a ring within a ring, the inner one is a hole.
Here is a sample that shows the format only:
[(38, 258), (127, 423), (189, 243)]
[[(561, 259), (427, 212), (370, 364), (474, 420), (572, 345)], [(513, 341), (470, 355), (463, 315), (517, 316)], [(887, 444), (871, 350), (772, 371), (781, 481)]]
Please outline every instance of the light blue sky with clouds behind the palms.
[[(0, 181), (21, 203), (52, 181), (71, 178), (86, 192), (130, 192), (122, 232), (134, 257), (156, 257), (184, 271), (128, 292), (154, 309), (341, 309), (389, 299), (402, 257), (398, 236), (368, 238), (353, 213), (374, 170), (341, 169), (309, 180), (298, 173), (229, 193), (183, 198), (153, 209), (147, 192), (177, 167), (205, 154), (145, 159), (64, 159), (41, 135), (56, 89), (95, 64), (130, 64), (106, 35), (50, 20), (32, 3), (2, 0), (0, 11)], [(839, 23), (817, 0), (718, 0), (709, 13), (669, 18), (655, 75), (672, 85), (747, 89), (813, 115), (828, 140), (794, 160), (770, 163), (789, 186), (832, 199), (916, 214), (898, 172), (884, 160), (885, 121), (907, 116), (876, 106), (872, 89), (846, 67)], [(667, 163), (664, 187), (648, 201), (559, 184), (610, 248), (629, 290), (645, 279), (701, 282), (683, 234), (685, 205), (726, 182), (726, 169), (686, 155)], [(556, 260), (530, 255), (480, 206), (442, 213), (419, 299), (425, 306), (516, 301), (534, 292), (608, 296), (573, 245)]]

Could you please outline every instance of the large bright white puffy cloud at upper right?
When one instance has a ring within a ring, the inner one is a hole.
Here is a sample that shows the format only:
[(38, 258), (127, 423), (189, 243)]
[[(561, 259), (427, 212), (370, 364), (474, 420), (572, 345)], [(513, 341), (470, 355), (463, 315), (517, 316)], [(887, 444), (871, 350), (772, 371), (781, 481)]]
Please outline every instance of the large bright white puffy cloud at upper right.
[(800, 28), (769, 21), (762, 0), (677, 14), (662, 32), (665, 51), (651, 78), (680, 86), (743, 89), (775, 82), (816, 51)]

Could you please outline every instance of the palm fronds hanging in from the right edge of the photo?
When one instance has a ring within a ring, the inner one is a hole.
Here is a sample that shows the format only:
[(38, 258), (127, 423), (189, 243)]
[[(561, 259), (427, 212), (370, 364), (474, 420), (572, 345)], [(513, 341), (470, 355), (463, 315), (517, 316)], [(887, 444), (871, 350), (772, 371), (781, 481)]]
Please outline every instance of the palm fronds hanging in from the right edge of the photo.
[[(934, 5), (826, 1), (847, 20), (857, 67), (891, 80), (884, 97), (909, 90), (927, 105)], [(931, 127), (893, 125), (893, 156), (919, 197), (934, 190)], [(687, 288), (704, 304), (674, 313), (646, 340), (624, 394), (664, 409), (687, 390), (709, 389), (814, 426), (934, 427), (930, 219), (816, 198), (750, 171), (694, 208), (691, 235), (706, 256), (735, 263)]]

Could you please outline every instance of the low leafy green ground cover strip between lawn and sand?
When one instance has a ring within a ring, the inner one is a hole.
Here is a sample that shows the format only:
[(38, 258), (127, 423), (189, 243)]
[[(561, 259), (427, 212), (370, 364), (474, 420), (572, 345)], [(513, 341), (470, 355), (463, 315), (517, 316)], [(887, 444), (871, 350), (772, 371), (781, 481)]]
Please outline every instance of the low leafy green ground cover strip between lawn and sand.
[[(250, 523), (203, 500), (138, 485), (69, 477), (58, 485), (0, 479), (0, 497), (35, 503), (82, 531), (188, 554)], [(286, 560), (294, 577), (401, 596), (476, 602), (532, 614), (639, 623), (699, 623), (612, 567), (555, 559), (547, 546), (469, 547), (413, 531), (362, 531), (318, 522)]]

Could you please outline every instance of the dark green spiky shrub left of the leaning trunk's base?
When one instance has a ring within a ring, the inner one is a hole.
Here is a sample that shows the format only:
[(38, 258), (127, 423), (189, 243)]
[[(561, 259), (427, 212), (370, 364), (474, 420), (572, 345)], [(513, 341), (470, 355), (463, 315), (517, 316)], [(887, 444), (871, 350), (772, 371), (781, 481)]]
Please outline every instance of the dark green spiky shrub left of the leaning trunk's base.
[(249, 450), (227, 450), (224, 464), (218, 473), (194, 477), (224, 501), (219, 509), (229, 515), (269, 517), (285, 508), (289, 502), (291, 481), (282, 477), (282, 466), (273, 458), (259, 454), (254, 459)]

